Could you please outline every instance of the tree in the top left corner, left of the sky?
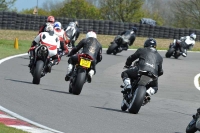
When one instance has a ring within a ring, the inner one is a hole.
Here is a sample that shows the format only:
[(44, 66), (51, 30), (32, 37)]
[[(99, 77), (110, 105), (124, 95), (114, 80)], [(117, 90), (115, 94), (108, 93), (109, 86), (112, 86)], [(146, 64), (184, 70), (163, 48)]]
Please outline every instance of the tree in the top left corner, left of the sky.
[(0, 11), (9, 11), (16, 0), (0, 0)]

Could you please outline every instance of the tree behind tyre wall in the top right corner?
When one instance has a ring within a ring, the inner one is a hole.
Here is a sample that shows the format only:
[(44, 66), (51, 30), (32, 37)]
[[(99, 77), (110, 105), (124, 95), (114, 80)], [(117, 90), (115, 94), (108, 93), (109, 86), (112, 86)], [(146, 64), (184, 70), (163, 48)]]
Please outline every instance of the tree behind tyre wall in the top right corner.
[(200, 0), (176, 0), (173, 12), (175, 27), (200, 29)]

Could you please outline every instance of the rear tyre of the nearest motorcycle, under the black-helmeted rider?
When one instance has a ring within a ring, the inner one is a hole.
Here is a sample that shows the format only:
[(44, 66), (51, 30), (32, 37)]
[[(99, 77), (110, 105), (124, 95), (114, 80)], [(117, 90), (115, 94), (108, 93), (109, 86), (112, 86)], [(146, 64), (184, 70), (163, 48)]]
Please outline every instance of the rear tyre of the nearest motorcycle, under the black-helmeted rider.
[(137, 114), (142, 106), (144, 101), (144, 97), (146, 95), (146, 87), (145, 86), (138, 86), (135, 90), (134, 96), (132, 101), (130, 102), (128, 111), (132, 114)]

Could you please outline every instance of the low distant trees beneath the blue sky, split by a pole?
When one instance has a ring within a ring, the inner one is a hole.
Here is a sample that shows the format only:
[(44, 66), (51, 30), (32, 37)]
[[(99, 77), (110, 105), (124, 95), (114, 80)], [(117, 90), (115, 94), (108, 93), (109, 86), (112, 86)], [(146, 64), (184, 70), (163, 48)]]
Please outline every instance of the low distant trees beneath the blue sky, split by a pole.
[[(31, 9), (24, 9), (19, 13), (21, 13), (21, 14), (33, 14), (33, 12), (34, 12), (34, 8), (31, 8)], [(38, 8), (38, 14), (37, 15), (39, 15), (39, 16), (49, 16), (49, 15), (51, 15), (51, 12), (46, 11), (42, 8)]]

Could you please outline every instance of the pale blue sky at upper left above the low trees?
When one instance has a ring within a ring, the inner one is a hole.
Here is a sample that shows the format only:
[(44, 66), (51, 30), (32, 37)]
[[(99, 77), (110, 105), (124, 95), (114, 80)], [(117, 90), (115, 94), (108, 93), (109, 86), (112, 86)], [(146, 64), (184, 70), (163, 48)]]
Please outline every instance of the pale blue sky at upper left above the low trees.
[[(18, 11), (21, 11), (23, 9), (29, 9), (34, 8), (37, 6), (41, 8), (44, 2), (47, 2), (48, 0), (16, 0), (13, 7), (16, 7)], [(50, 0), (52, 1), (52, 0)], [(54, 0), (54, 1), (63, 1), (63, 0)]]

